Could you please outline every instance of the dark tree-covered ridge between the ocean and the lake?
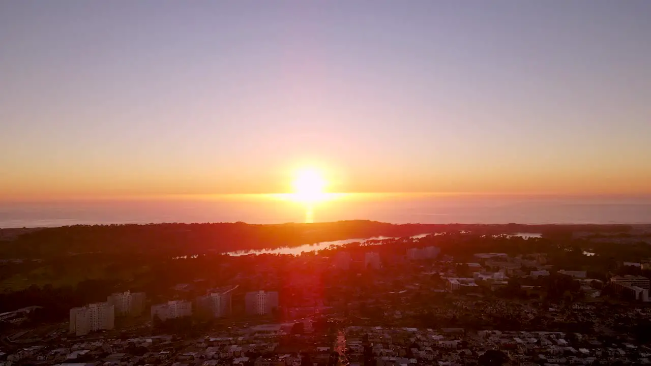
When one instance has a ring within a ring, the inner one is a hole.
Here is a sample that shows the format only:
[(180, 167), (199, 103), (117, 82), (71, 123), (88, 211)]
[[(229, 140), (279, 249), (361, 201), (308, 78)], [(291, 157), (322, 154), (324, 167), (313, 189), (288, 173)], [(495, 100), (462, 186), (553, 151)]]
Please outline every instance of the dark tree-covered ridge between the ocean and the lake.
[(372, 236), (405, 237), (434, 232), (475, 234), (542, 232), (571, 236), (573, 231), (626, 232), (625, 225), (470, 225), (404, 224), (377, 221), (333, 223), (159, 223), (147, 225), (74, 225), (45, 228), (18, 236), (0, 246), (0, 258), (50, 258), (72, 253), (153, 253), (192, 255), (299, 246)]

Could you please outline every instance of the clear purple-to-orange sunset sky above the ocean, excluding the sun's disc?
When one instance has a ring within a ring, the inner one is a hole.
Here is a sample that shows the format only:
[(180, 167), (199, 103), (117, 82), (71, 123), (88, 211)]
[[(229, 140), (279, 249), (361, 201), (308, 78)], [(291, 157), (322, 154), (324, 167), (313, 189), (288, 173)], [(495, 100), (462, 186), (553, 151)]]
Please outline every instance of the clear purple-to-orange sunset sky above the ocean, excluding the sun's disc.
[(651, 1), (1, 1), (0, 199), (651, 193)]

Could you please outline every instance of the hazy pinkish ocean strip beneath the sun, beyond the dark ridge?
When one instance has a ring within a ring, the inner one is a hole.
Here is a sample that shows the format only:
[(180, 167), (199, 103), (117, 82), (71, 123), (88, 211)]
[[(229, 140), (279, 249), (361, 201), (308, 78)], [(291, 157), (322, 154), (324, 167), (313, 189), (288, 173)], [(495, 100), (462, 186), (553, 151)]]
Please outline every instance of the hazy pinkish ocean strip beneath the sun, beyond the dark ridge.
[(368, 219), (389, 223), (651, 223), (649, 197), (336, 195), (320, 203), (283, 195), (0, 202), (0, 228), (77, 224), (287, 223)]

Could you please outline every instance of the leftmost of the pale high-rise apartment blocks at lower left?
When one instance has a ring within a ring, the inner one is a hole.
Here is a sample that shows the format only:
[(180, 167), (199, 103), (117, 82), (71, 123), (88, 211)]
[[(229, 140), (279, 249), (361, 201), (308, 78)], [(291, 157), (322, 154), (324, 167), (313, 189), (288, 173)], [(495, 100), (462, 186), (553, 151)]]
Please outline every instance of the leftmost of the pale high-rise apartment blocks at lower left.
[(90, 303), (70, 309), (70, 332), (86, 335), (91, 331), (110, 330), (115, 326), (115, 307), (108, 302)]

